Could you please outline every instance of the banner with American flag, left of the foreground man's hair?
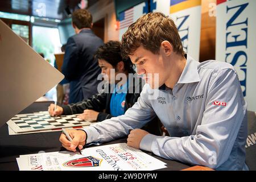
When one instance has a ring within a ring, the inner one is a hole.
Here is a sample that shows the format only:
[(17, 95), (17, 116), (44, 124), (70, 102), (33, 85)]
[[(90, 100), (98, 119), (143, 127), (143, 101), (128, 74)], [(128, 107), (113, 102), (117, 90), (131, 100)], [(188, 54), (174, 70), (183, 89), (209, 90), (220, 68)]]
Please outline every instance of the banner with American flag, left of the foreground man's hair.
[(148, 13), (148, 3), (143, 2), (137, 6), (119, 13), (119, 40), (122, 39), (122, 35), (126, 32), (128, 27), (134, 23), (139, 17)]

